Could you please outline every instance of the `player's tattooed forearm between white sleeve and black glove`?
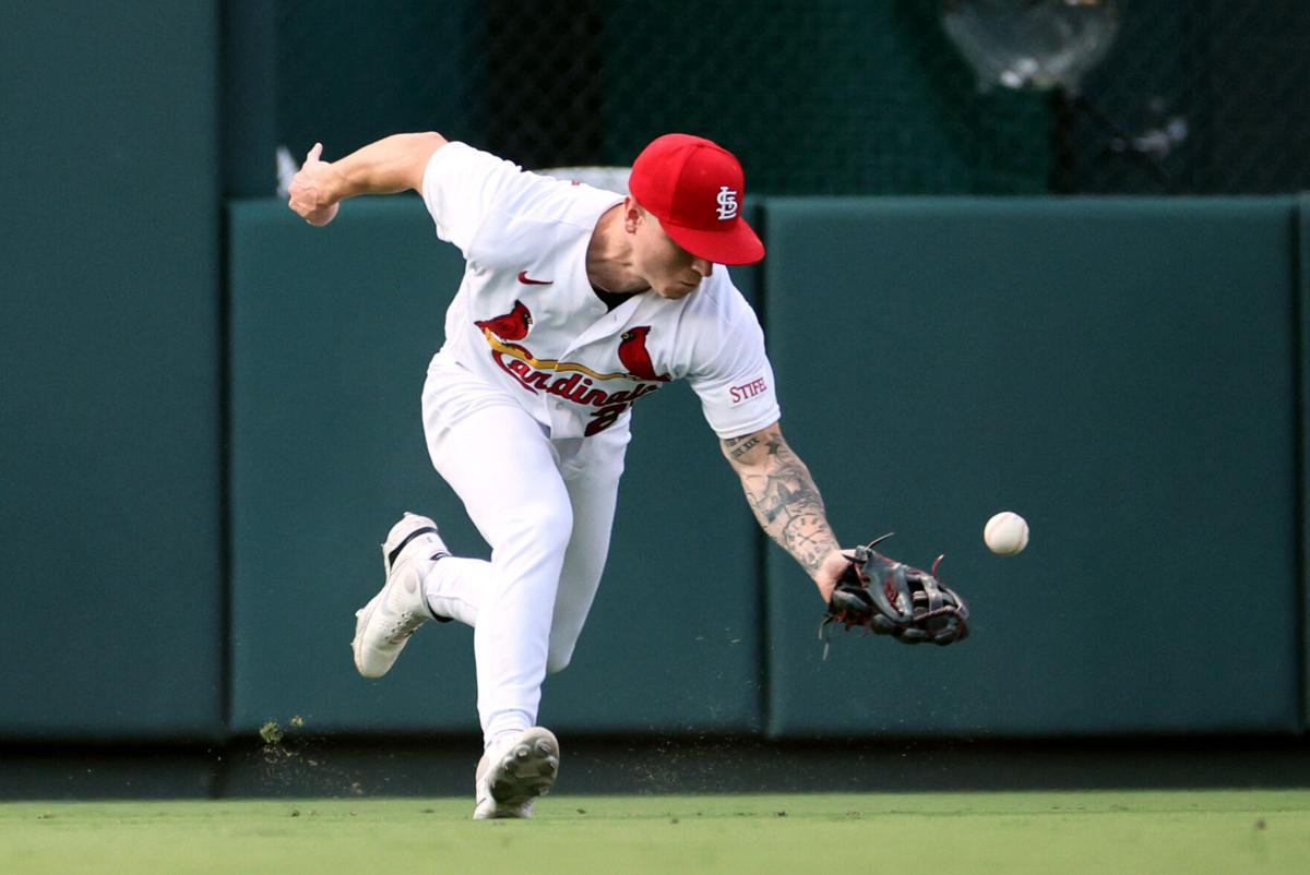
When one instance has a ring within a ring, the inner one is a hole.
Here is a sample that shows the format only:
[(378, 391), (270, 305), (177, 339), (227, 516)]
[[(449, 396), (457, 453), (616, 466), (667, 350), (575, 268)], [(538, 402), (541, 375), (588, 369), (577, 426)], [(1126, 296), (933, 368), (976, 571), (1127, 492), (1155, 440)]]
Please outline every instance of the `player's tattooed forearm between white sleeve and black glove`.
[[(781, 434), (765, 435), (764, 440), (766, 455), (760, 464), (740, 470), (747, 502), (769, 537), (814, 574), (824, 557), (838, 549), (824, 513), (823, 498), (810, 469), (791, 452)], [(730, 457), (736, 460), (740, 458), (736, 449), (758, 441), (756, 435), (738, 447), (724, 443)]]

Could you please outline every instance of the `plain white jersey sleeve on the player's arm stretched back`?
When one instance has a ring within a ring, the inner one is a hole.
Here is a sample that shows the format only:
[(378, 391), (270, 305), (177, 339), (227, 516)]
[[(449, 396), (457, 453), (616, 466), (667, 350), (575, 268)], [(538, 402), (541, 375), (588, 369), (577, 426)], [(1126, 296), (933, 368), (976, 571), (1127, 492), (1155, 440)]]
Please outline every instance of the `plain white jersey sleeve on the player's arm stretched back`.
[(423, 170), (423, 203), (436, 224), (436, 236), (470, 258), (478, 228), (514, 196), (524, 176), (512, 161), (465, 143), (439, 148)]

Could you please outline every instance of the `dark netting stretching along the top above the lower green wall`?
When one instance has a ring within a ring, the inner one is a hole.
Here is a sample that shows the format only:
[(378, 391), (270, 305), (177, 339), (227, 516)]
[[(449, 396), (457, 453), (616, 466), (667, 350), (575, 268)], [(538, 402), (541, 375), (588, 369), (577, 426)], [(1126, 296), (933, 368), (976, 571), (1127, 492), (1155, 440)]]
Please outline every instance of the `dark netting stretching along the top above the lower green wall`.
[[(942, 25), (1078, 7), (1116, 26), (1077, 90), (980, 89)], [(279, 46), (280, 139), (329, 157), (435, 128), (624, 165), (688, 131), (773, 194), (1310, 187), (1303, 0), (279, 0)]]

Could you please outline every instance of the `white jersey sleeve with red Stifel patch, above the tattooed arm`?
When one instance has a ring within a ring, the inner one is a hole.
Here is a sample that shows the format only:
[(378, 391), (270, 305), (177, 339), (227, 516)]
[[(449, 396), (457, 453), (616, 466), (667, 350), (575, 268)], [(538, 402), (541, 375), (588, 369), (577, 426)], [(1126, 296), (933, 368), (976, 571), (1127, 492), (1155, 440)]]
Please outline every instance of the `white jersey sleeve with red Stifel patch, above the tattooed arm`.
[(688, 373), (686, 381), (701, 398), (705, 420), (720, 439), (748, 435), (778, 422), (773, 365), (753, 312), (736, 320), (715, 358)]

